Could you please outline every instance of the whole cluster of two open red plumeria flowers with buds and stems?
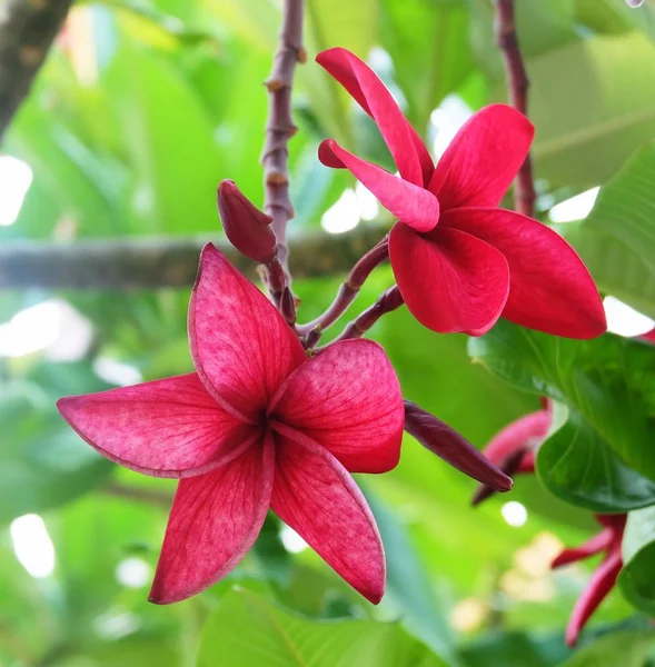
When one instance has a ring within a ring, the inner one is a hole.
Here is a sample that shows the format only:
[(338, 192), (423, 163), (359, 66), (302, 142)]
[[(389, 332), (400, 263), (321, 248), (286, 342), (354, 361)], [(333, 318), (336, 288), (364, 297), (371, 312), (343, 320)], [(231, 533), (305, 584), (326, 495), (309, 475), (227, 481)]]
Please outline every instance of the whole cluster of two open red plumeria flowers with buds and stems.
[[(189, 305), (195, 370), (58, 404), (72, 428), (110, 460), (179, 480), (150, 593), (155, 603), (188, 598), (225, 577), (272, 510), (377, 604), (385, 588), (384, 549), (351, 474), (391, 470), (404, 429), (486, 492), (509, 490), (509, 475), (529, 467), (527, 459), (514, 460), (514, 442), (522, 442), (527, 457), (524, 431), (532, 426), (516, 426), (485, 457), (434, 415), (403, 400), (383, 348), (361, 339), (388, 310), (405, 302), (438, 332), (477, 336), (500, 316), (576, 338), (605, 330), (598, 291), (575, 251), (536, 220), (497, 208), (532, 141), (525, 117), (504, 106), (483, 109), (435, 168), (361, 60), (333, 49), (318, 62), (374, 118), (400, 177), (331, 140), (321, 145), (319, 158), (350, 169), (398, 218), (390, 233), (356, 263), (324, 316), (298, 325), (272, 219), (224, 181), (218, 207), (226, 236), (264, 265), (272, 302), (208, 245)], [(387, 258), (398, 285), (317, 348), (322, 330)], [(539, 438), (547, 431), (546, 414), (549, 424), (547, 405), (535, 419)]]

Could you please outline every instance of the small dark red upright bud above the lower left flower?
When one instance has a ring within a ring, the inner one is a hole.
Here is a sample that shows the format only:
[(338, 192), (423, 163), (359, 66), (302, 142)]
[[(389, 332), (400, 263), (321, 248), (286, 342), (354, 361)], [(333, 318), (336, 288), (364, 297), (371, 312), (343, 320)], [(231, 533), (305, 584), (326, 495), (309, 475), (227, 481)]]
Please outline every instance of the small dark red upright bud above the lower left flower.
[(231, 180), (218, 187), (218, 212), (227, 238), (239, 252), (260, 263), (270, 262), (277, 255), (272, 218), (250, 202)]

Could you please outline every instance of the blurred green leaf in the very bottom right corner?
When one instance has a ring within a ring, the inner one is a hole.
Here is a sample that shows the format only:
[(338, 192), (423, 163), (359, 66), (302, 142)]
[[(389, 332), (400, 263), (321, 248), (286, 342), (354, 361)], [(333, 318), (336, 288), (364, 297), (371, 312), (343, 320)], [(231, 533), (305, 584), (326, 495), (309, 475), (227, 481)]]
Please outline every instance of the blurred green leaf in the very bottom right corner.
[(644, 667), (653, 630), (611, 633), (585, 646), (560, 667)]

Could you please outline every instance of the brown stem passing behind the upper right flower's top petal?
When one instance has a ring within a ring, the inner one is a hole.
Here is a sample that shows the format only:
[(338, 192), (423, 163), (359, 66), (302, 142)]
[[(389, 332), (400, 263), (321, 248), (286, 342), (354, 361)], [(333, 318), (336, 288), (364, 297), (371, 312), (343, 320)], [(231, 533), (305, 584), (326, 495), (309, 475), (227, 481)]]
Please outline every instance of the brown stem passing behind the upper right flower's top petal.
[[(529, 80), (516, 36), (514, 0), (494, 0), (494, 2), (496, 4), (496, 42), (505, 60), (509, 103), (524, 116), (527, 116)], [(533, 166), (528, 155), (516, 177), (514, 189), (516, 210), (524, 216), (532, 217), (536, 198)]]

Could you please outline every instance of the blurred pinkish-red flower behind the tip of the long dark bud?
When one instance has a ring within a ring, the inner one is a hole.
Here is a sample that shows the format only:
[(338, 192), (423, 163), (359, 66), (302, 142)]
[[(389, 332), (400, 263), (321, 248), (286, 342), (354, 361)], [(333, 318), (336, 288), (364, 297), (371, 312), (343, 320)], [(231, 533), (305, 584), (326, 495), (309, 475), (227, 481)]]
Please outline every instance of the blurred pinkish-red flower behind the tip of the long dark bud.
[[(505, 475), (532, 474), (535, 471), (537, 449), (546, 439), (552, 421), (553, 401), (542, 398), (539, 410), (508, 424), (489, 440), (483, 454)], [(489, 485), (480, 485), (473, 497), (473, 504), (479, 505), (495, 491)]]

